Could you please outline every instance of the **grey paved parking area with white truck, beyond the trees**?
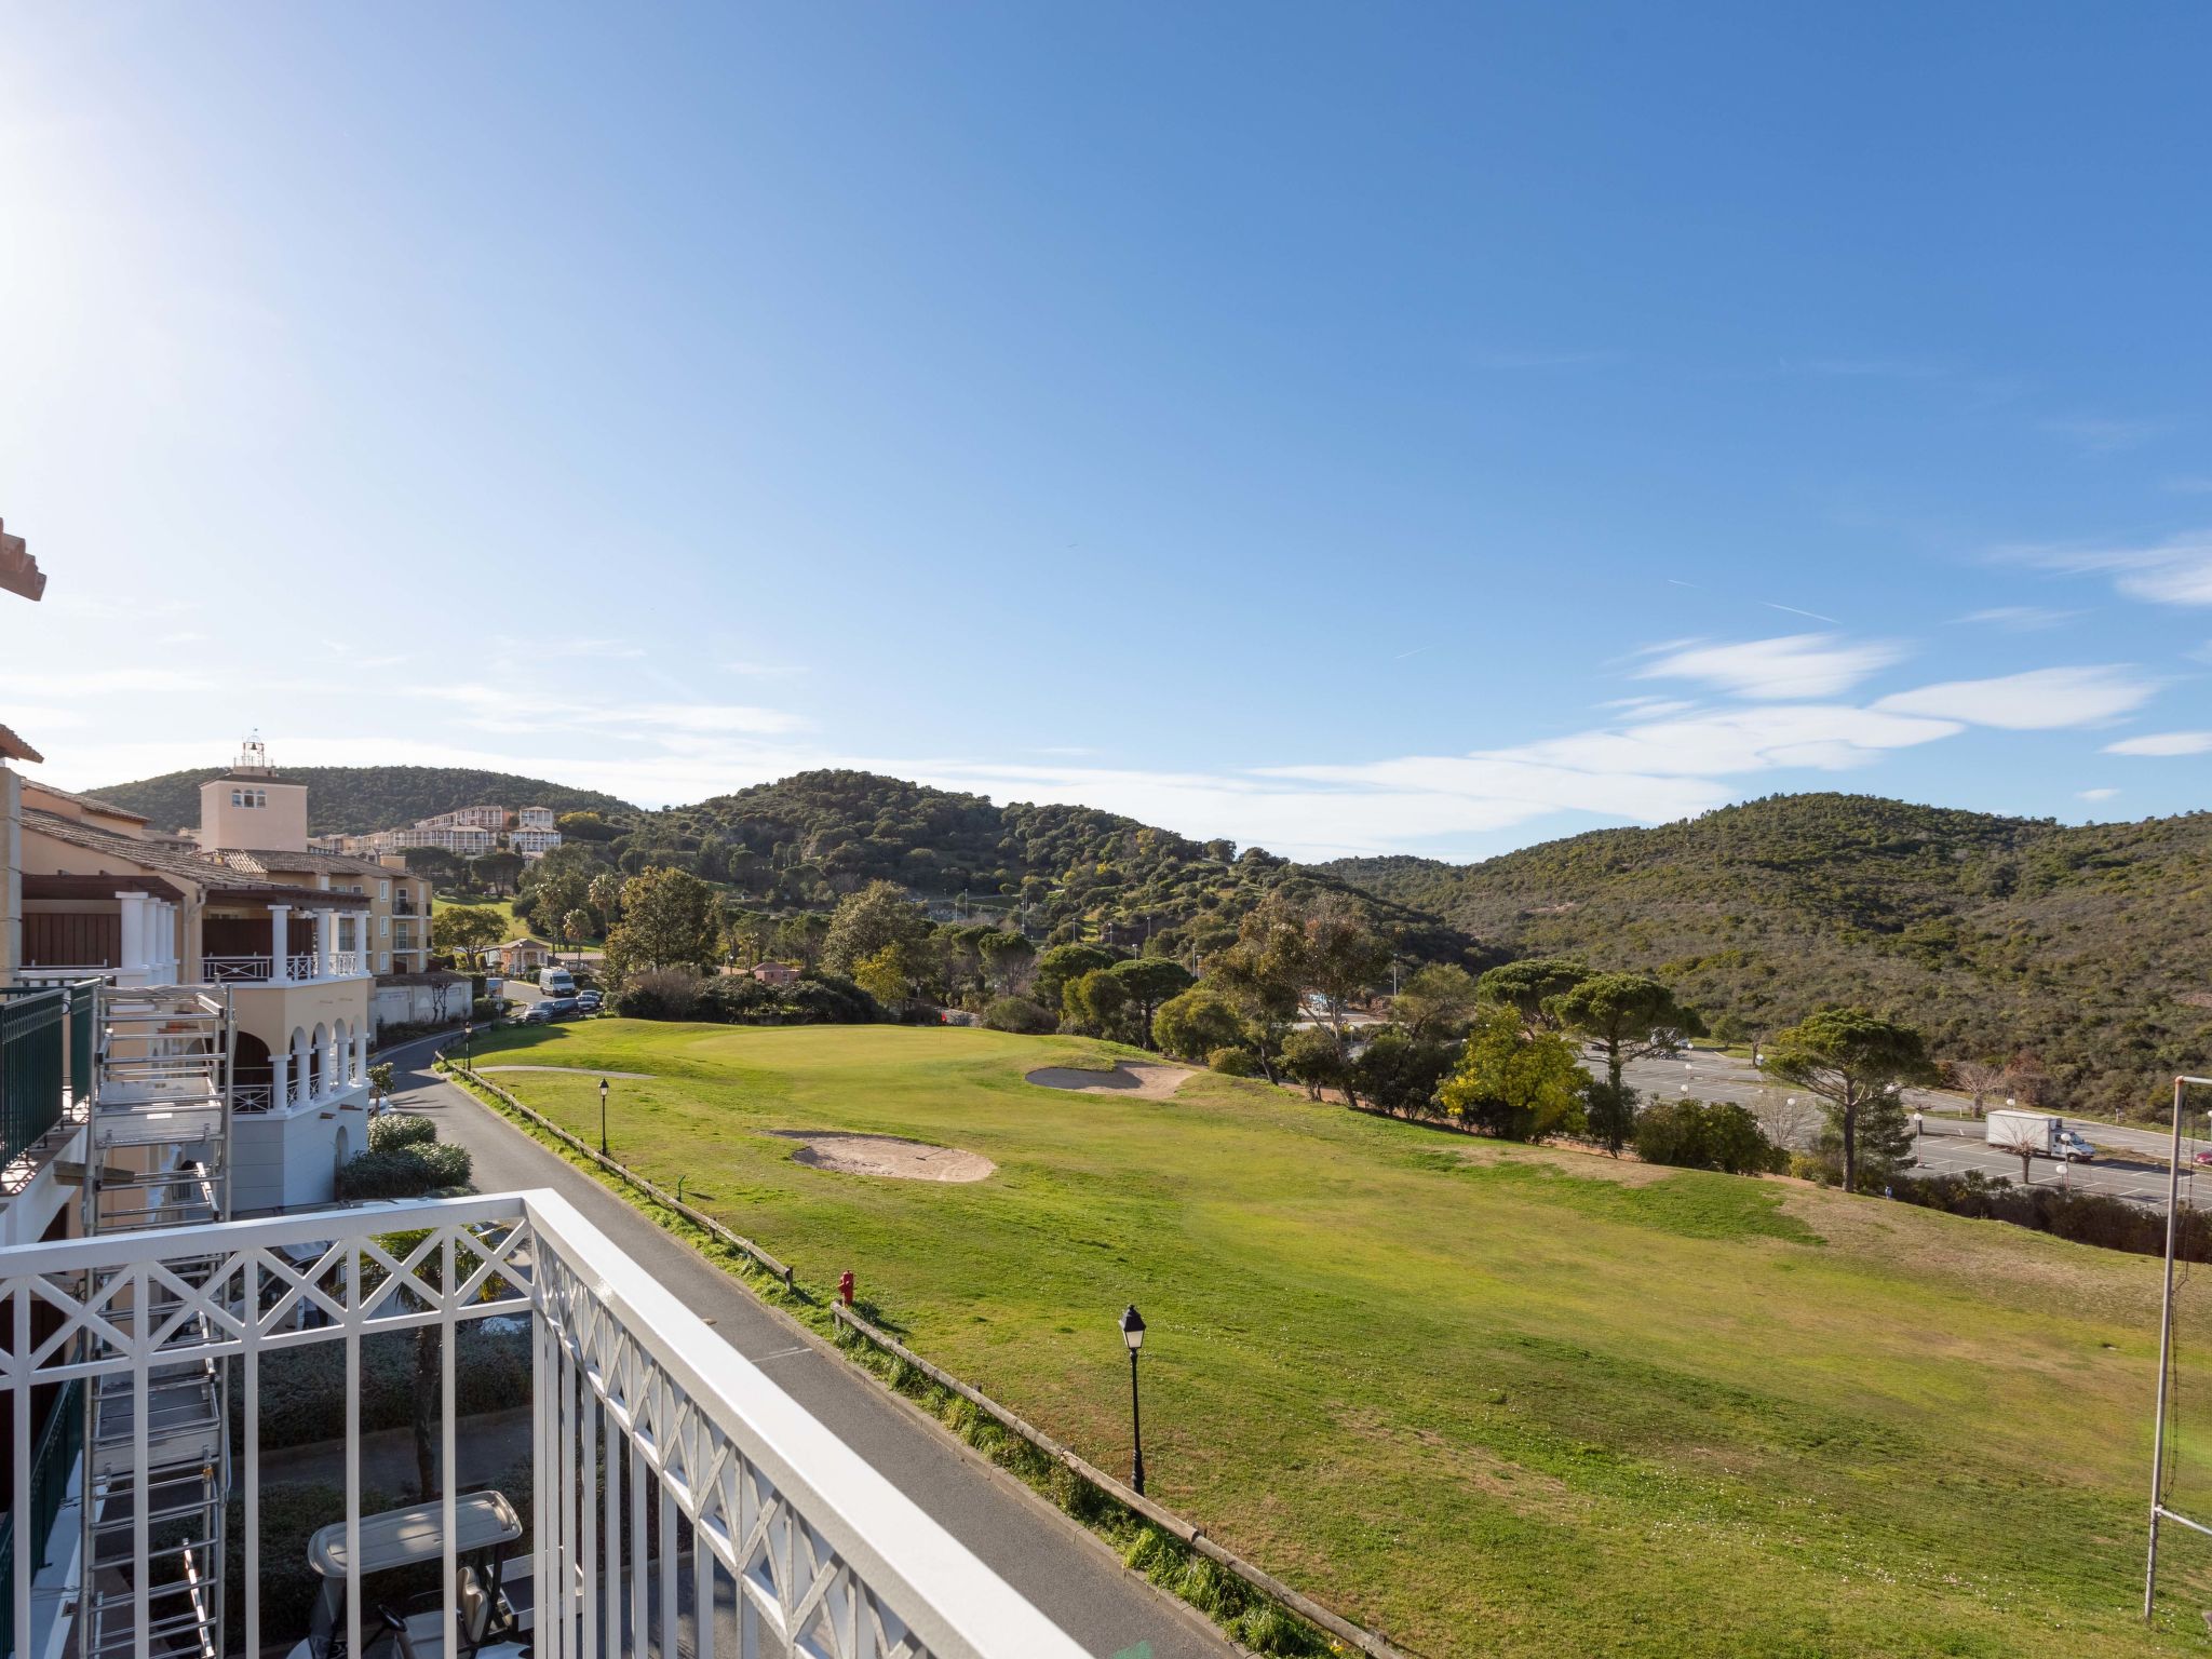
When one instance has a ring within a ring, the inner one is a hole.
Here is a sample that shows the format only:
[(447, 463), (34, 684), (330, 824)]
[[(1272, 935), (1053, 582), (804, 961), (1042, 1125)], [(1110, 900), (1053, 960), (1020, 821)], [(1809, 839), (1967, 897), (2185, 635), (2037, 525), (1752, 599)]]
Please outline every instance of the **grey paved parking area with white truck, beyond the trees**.
[[(1732, 1099), (1750, 1106), (1763, 1121), (1778, 1126), (1790, 1146), (1805, 1148), (1820, 1128), (1820, 1115), (1807, 1095), (1796, 1095), (1798, 1110), (1787, 1102), (1792, 1091), (1767, 1084), (1747, 1060), (1734, 1055), (1692, 1048), (1677, 1060), (1639, 1060), (1626, 1068), (1628, 1082), (1644, 1091), (1646, 1099), (1668, 1095), (1690, 1095), (1697, 1099)], [(2006, 1177), (2020, 1183), (2020, 1159), (1989, 1148), (1984, 1126), (1973, 1119), (1951, 1117), (1964, 1110), (1958, 1095), (1929, 1088), (1907, 1091), (1907, 1102), (1924, 1115), (1927, 1133), (1916, 1141), (1918, 1166), (1931, 1175), (1960, 1175), (1980, 1170), (1991, 1177)], [(2033, 1166), (2035, 1186), (2077, 1186), (2084, 1192), (2110, 1192), (2115, 1197), (2166, 1208), (2166, 1150), (2168, 1137), (2154, 1130), (2117, 1126), (2095, 1117), (2068, 1117), (2066, 1124), (2081, 1133), (2101, 1157), (2095, 1164), (2075, 1164), (2070, 1170), (2037, 1159)], [(2203, 1124), (2199, 1124), (2201, 1128)], [(2203, 1148), (2205, 1141), (2183, 1146)], [(2212, 1175), (2212, 1172), (2208, 1172)]]

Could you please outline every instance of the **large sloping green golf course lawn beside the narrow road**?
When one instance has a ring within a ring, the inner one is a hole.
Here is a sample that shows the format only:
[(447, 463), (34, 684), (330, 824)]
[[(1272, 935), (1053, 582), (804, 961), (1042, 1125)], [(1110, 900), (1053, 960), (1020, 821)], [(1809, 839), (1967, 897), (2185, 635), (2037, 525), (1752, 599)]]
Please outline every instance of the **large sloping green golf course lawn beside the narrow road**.
[[(2212, 1542), (2141, 1595), (2154, 1261), (1783, 1181), (1389, 1124), (1225, 1077), (1024, 1082), (1066, 1037), (597, 1020), (500, 1082), (860, 1298), (1108, 1469), (1135, 1301), (1150, 1489), (1422, 1655), (2201, 1648)], [(832, 1175), (768, 1130), (991, 1157)], [(2185, 1301), (2203, 1354), (2203, 1294)], [(2212, 1400), (2190, 1363), (2183, 1405)], [(2203, 1411), (2181, 1495), (2212, 1498)], [(1110, 1632), (1097, 1632), (1110, 1637)]]

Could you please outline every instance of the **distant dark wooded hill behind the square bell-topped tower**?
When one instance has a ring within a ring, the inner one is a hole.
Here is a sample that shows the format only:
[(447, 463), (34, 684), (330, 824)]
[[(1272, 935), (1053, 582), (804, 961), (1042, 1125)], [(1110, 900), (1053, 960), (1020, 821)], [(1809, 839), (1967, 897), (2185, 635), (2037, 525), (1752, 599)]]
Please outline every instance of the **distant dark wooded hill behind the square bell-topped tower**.
[[(223, 768), (208, 765), (197, 772), (164, 772), (157, 779), (111, 783), (102, 790), (88, 790), (88, 794), (113, 801), (126, 812), (144, 812), (159, 830), (181, 830), (199, 823), (199, 785), (221, 774)], [(473, 772), (458, 765), (288, 765), (281, 774), (288, 783), (307, 785), (307, 827), (319, 836), (398, 830), (416, 818), (473, 805), (637, 812), (626, 801), (597, 790), (571, 790), (544, 779)]]

